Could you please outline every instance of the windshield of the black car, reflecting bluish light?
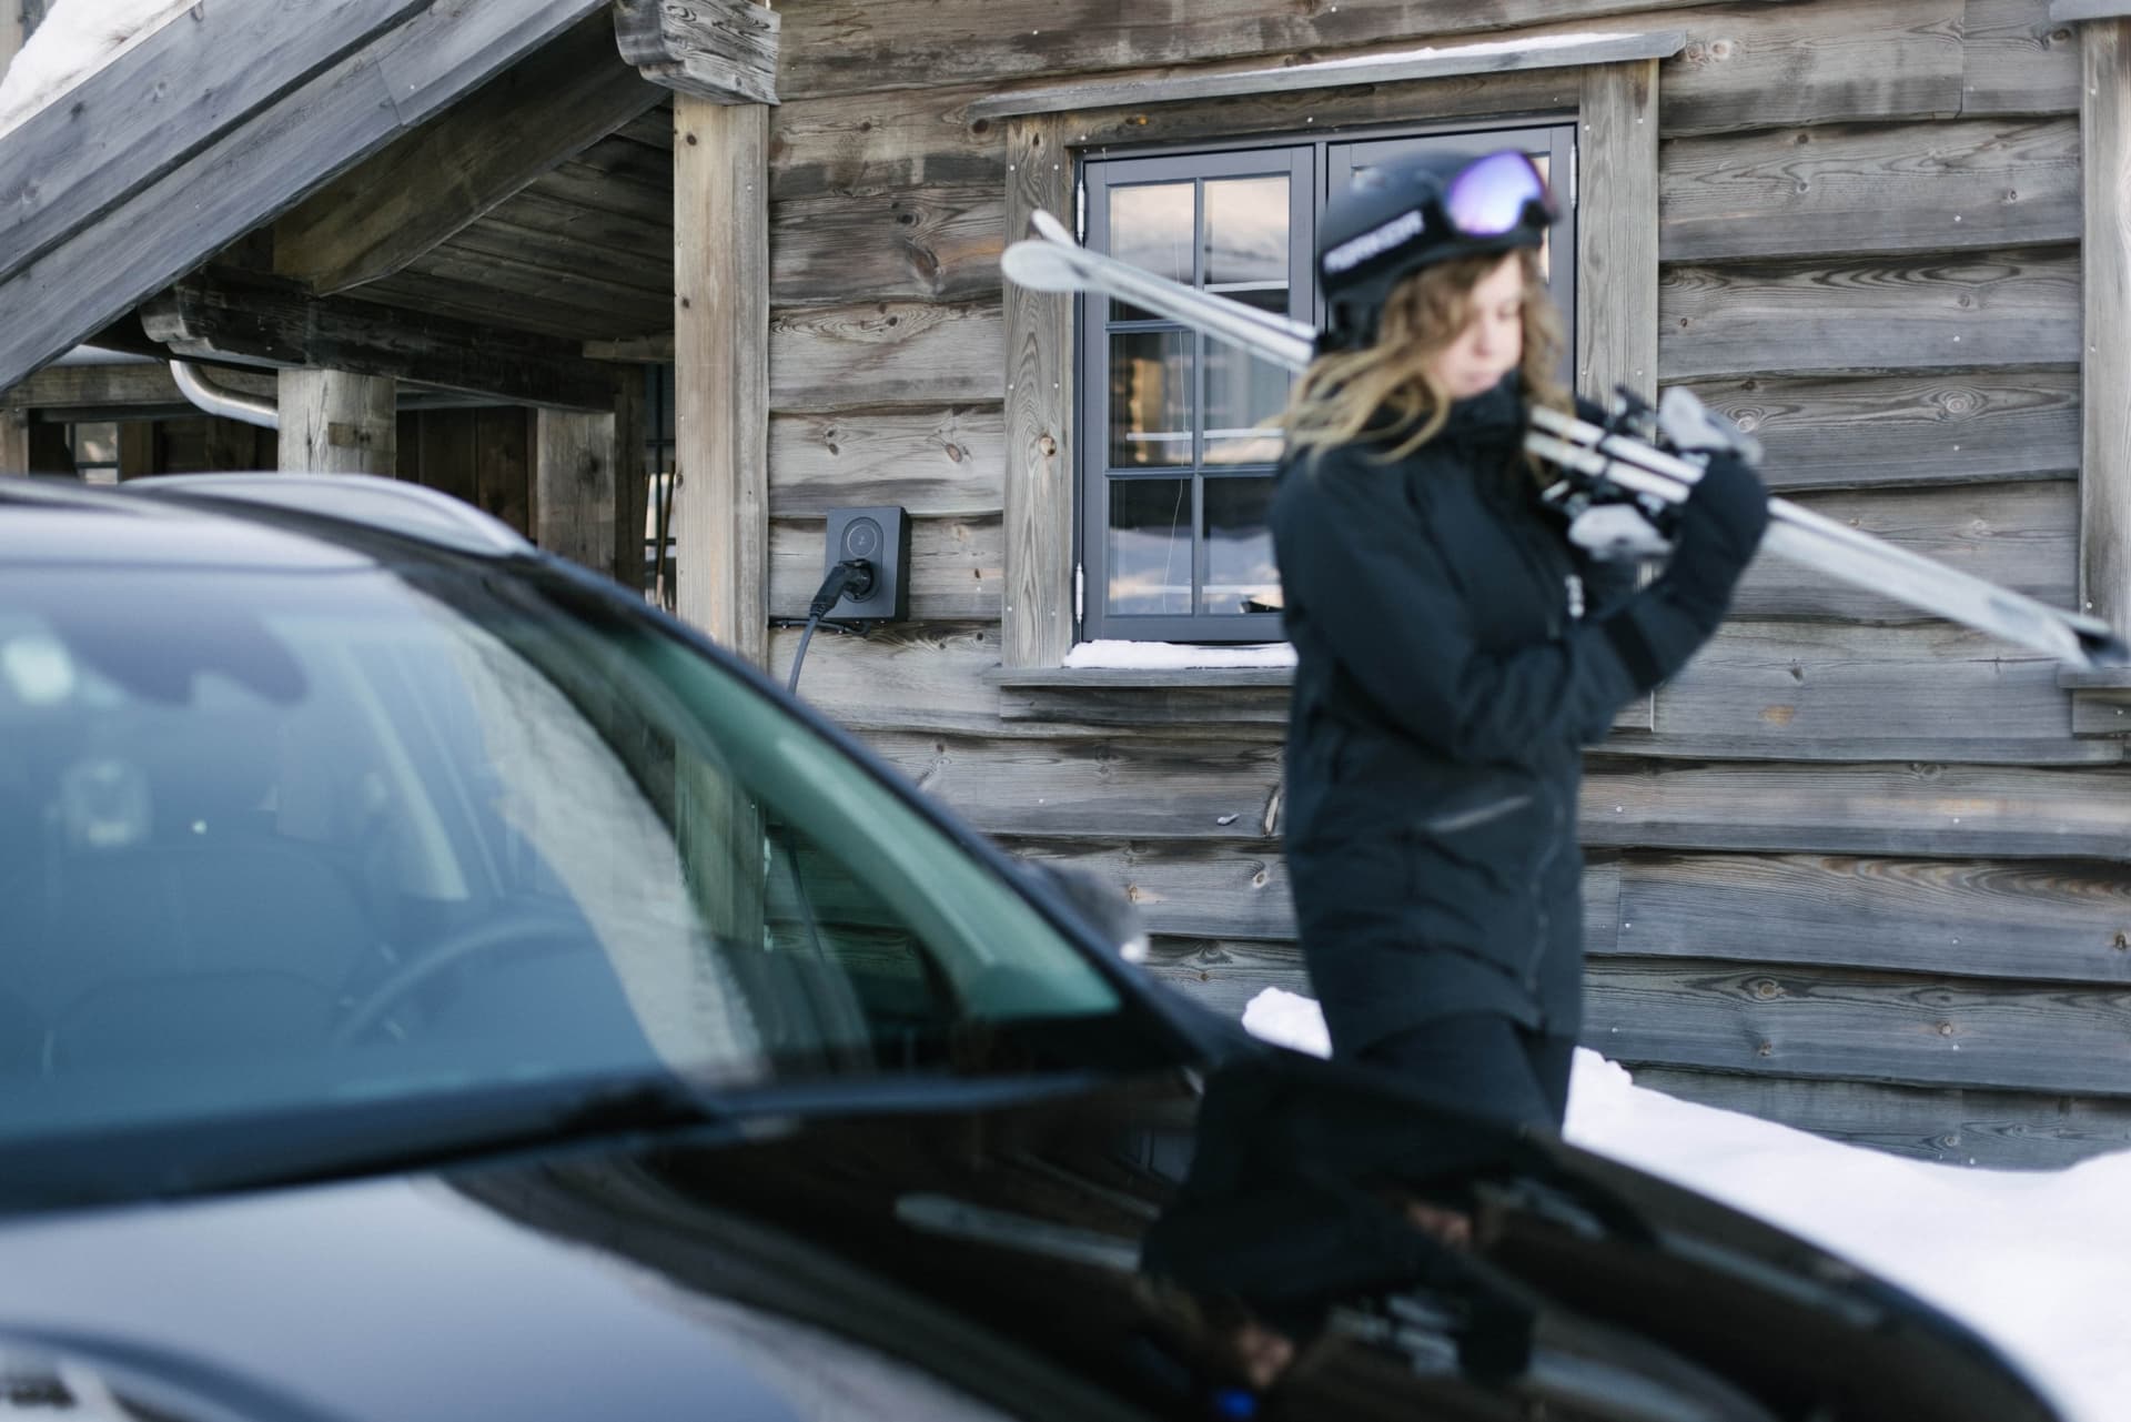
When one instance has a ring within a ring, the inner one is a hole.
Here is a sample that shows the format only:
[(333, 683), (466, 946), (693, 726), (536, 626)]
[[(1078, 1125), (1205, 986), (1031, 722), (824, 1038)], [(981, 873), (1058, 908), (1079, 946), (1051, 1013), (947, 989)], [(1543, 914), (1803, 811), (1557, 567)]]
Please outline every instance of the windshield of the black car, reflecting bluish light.
[(833, 740), (554, 578), (0, 573), (0, 1149), (1164, 1040)]

